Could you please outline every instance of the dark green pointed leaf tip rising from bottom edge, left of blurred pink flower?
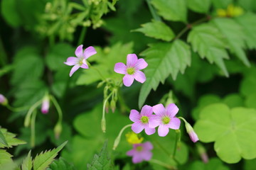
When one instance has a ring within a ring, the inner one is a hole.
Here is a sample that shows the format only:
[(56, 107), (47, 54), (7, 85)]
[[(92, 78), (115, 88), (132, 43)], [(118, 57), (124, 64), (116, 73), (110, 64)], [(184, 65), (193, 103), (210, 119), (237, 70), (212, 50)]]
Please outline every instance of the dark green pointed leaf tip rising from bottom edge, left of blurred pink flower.
[(92, 160), (92, 164), (87, 164), (88, 170), (113, 170), (114, 166), (111, 164), (111, 160), (107, 155), (107, 141), (105, 142), (104, 146), (100, 154), (95, 154), (95, 157)]

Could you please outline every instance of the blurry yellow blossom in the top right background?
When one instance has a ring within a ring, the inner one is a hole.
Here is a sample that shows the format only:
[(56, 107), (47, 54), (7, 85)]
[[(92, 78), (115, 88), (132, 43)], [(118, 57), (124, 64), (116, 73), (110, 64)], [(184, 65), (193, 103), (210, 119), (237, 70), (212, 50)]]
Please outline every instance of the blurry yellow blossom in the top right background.
[(220, 17), (234, 17), (241, 16), (244, 13), (240, 6), (234, 6), (233, 4), (228, 5), (227, 9), (217, 9), (217, 16)]

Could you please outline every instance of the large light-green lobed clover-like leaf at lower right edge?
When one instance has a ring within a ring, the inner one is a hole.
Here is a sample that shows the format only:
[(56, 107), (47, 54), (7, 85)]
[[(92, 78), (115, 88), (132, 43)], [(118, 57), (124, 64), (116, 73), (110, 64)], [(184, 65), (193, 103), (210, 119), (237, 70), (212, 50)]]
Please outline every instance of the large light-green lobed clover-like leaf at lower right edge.
[(215, 103), (200, 113), (194, 130), (202, 142), (215, 142), (218, 157), (229, 164), (256, 157), (256, 110)]

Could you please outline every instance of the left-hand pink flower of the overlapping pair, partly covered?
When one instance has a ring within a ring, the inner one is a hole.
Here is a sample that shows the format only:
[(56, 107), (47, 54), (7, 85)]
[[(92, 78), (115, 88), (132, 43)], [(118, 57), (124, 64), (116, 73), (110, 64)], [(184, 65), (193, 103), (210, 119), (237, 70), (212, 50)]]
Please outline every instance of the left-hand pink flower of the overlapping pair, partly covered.
[(136, 133), (139, 133), (145, 129), (146, 135), (154, 134), (154, 132), (156, 132), (155, 128), (149, 128), (149, 123), (152, 116), (153, 110), (151, 106), (143, 106), (140, 114), (138, 111), (132, 109), (129, 115), (129, 119), (134, 122), (132, 124), (132, 130)]

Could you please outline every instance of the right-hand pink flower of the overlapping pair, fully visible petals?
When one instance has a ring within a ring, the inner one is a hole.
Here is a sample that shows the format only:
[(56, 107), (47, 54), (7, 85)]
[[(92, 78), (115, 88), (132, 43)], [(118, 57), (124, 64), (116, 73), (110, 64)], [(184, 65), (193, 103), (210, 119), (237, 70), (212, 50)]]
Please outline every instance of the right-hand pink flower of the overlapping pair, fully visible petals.
[(181, 125), (181, 120), (174, 117), (178, 113), (178, 107), (171, 103), (164, 108), (162, 104), (153, 106), (153, 112), (156, 113), (149, 122), (150, 128), (158, 128), (158, 134), (161, 137), (166, 136), (169, 133), (169, 128), (177, 130)]

